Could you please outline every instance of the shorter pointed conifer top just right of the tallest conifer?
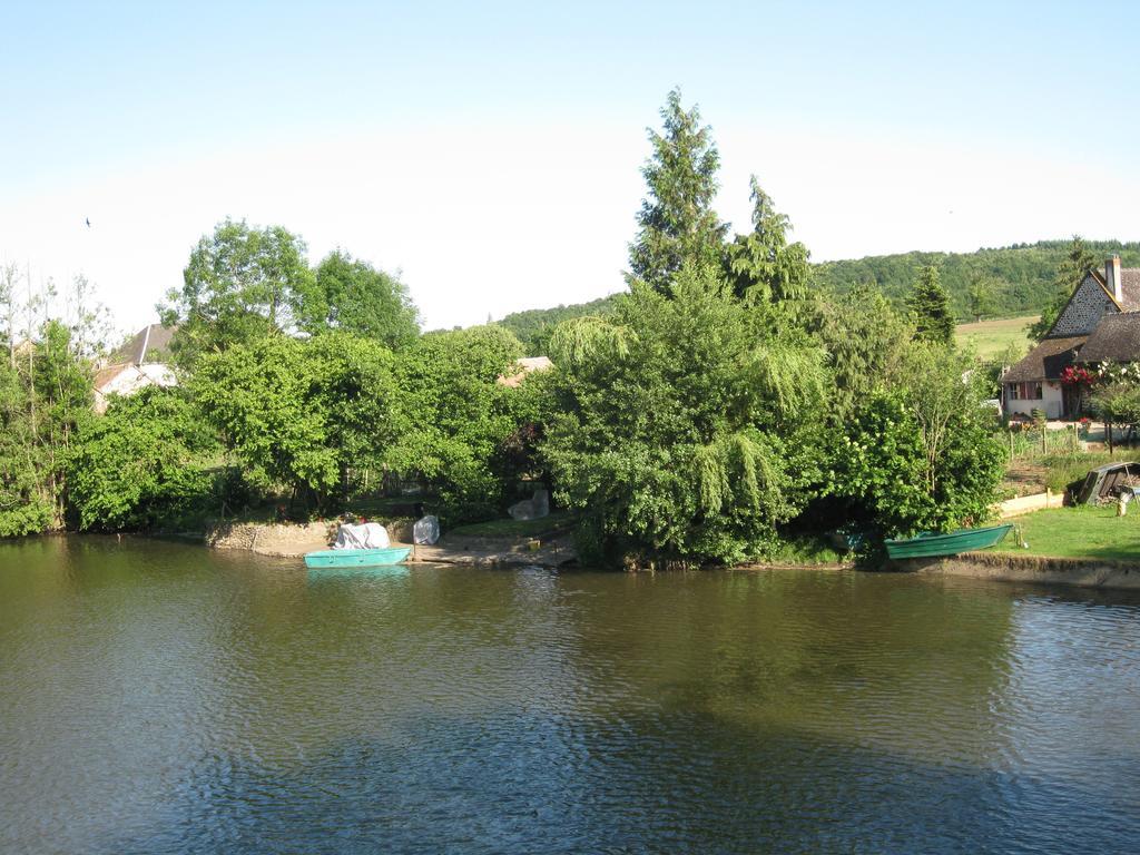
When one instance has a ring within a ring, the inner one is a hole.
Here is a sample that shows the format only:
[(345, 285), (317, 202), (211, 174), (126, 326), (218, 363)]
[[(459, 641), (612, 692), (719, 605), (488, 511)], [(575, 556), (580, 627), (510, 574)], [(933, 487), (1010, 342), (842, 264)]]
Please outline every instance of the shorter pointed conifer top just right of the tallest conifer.
[(736, 296), (749, 300), (803, 300), (808, 294), (807, 247), (788, 243), (791, 223), (751, 178), (752, 230), (725, 247), (725, 275)]

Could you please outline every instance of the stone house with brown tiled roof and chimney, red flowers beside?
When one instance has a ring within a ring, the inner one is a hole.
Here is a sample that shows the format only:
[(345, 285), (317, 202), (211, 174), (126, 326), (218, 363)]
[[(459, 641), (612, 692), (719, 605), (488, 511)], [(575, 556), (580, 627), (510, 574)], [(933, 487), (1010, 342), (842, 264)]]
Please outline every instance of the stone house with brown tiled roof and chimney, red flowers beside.
[(1002, 405), (1009, 415), (1042, 410), (1072, 418), (1080, 392), (1061, 374), (1070, 365), (1140, 360), (1140, 268), (1121, 268), (1119, 255), (1091, 270), (1074, 288), (1052, 327), (1028, 356), (1002, 375)]

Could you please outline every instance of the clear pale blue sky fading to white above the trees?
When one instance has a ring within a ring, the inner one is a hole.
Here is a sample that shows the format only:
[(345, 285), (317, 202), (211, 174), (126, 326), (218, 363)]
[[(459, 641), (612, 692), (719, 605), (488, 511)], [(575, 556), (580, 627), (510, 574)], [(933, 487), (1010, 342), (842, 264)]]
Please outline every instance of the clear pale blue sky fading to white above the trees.
[(815, 258), (1138, 237), (1134, 5), (22, 6), (0, 261), (93, 274), (124, 326), (226, 215), (401, 267), (429, 326), (614, 291), (675, 84), (722, 215), (757, 172)]

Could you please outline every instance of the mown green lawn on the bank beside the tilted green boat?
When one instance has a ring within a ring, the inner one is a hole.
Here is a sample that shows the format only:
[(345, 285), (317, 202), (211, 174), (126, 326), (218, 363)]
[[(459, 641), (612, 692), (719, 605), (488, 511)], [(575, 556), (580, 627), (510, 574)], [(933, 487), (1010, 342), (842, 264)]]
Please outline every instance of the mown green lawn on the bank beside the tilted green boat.
[(1028, 549), (1010, 532), (995, 549), (1021, 555), (1067, 559), (1140, 561), (1140, 507), (1129, 505), (1127, 516), (1116, 515), (1116, 505), (1057, 507), (1018, 516)]

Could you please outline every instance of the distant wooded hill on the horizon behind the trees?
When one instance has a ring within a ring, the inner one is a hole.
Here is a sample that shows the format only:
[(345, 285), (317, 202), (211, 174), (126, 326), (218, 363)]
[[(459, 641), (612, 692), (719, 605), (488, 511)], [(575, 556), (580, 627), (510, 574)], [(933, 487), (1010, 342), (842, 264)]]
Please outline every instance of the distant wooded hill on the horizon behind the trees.
[[(1098, 259), (1116, 253), (1124, 267), (1140, 267), (1138, 242), (1086, 241), (1085, 244)], [(1035, 244), (1015, 244), (977, 252), (869, 255), (852, 261), (812, 264), (812, 270), (816, 287), (844, 293), (855, 285), (874, 283), (890, 300), (902, 303), (910, 293), (919, 269), (934, 264), (939, 270), (954, 312), (963, 320), (969, 317), (969, 287), (982, 277), (988, 277), (993, 282), (991, 316), (1037, 315), (1053, 295), (1053, 277), (1068, 245), (1067, 239), (1039, 241)], [(583, 315), (605, 315), (612, 311), (616, 298), (613, 294), (588, 303), (516, 311), (499, 323), (519, 336), (528, 356), (544, 356), (555, 326), (568, 318)]]

